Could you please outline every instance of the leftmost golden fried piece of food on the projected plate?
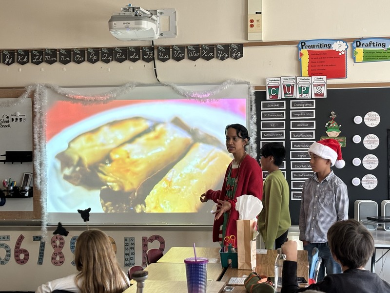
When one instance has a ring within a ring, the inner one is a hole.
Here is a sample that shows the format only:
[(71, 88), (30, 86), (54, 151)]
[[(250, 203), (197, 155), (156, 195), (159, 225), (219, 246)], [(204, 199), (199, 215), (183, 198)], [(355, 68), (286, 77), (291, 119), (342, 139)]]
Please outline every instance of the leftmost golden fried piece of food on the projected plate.
[[(64, 178), (71, 181), (69, 179), (72, 177), (82, 177), (88, 173), (85, 168), (98, 163), (114, 147), (131, 140), (153, 124), (144, 118), (135, 117), (114, 121), (79, 135), (69, 143), (66, 150), (56, 156), (61, 163)], [(72, 183), (77, 184), (76, 181)]]

